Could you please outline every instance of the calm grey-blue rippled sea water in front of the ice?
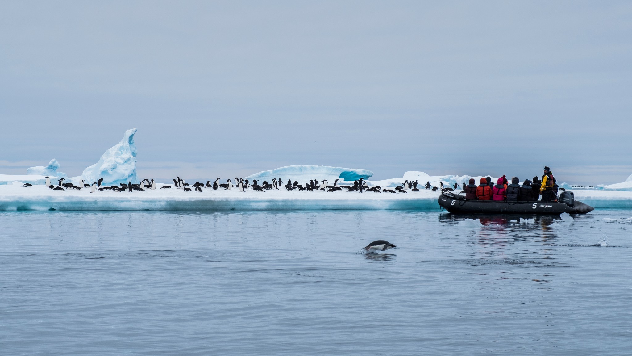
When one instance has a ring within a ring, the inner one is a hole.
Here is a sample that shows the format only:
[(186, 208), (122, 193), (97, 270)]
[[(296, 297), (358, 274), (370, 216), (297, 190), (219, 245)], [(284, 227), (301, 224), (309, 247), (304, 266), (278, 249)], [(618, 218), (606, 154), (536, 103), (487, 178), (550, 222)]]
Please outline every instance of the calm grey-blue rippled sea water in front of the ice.
[(0, 353), (631, 355), (631, 216), (3, 212)]

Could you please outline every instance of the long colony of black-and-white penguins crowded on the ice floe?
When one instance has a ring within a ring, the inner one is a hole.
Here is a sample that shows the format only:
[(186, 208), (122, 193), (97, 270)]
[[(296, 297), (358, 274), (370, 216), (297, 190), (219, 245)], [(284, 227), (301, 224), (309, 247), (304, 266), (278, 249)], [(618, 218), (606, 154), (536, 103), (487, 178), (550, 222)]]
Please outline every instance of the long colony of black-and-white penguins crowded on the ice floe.
[[(127, 184), (119, 183), (119, 185), (111, 185), (111, 186), (102, 185), (103, 178), (99, 178), (98, 181), (95, 181), (92, 184), (88, 184), (87, 182), (82, 180), (79, 185), (74, 185), (71, 182), (64, 183), (64, 180), (66, 180), (66, 178), (61, 178), (60, 180), (58, 180), (57, 186), (55, 186), (51, 184), (51, 178), (47, 176), (46, 185), (50, 189), (58, 190), (58, 191), (81, 190), (82, 188), (88, 188), (90, 189), (90, 193), (104, 192), (106, 190), (111, 190), (112, 192), (145, 192), (146, 190), (156, 190), (157, 188), (156, 182), (153, 179), (149, 180), (147, 178), (145, 178), (139, 184), (132, 184), (131, 181), (128, 181)], [(353, 185), (337, 185), (339, 179), (336, 179), (333, 185), (329, 185), (329, 182), (326, 179), (325, 180), (313, 179), (313, 180), (310, 180), (309, 183), (305, 183), (304, 185), (298, 183), (298, 181), (291, 181), (291, 180), (288, 180), (288, 183), (283, 184), (283, 180), (281, 178), (279, 179), (272, 178), (272, 183), (269, 183), (268, 181), (264, 180), (262, 181), (261, 184), (258, 183), (259, 182), (258, 180), (252, 180), (251, 182), (247, 179), (236, 178), (236, 177), (234, 178), (234, 181), (232, 179), (226, 180), (226, 183), (220, 183), (221, 181), (220, 177), (214, 180), (213, 183), (210, 183), (210, 180), (207, 180), (206, 184), (196, 181), (195, 184), (190, 185), (189, 183), (186, 183), (186, 181), (180, 178), (179, 176), (177, 176), (176, 178), (173, 178), (172, 181), (173, 181), (173, 185), (162, 185), (162, 187), (160, 187), (159, 189), (178, 188), (178, 189), (183, 190), (184, 192), (196, 192), (196, 193), (204, 193), (204, 190), (202, 190), (202, 188), (205, 188), (205, 189), (208, 188), (212, 190), (218, 190), (218, 189), (231, 190), (234, 188), (240, 192), (245, 192), (246, 189), (252, 189), (257, 192), (265, 192), (265, 190), (281, 190), (281, 188), (284, 188), (286, 190), (307, 190), (308, 192), (313, 192), (314, 190), (322, 190), (324, 192), (330, 192), (330, 193), (342, 191), (343, 189), (346, 189), (347, 192), (360, 192), (360, 193), (372, 192), (372, 193), (396, 194), (396, 193), (408, 193), (409, 191), (419, 192), (419, 188), (417, 188), (417, 186), (419, 185), (418, 181), (406, 180), (404, 181), (403, 185), (399, 185), (398, 187), (394, 187), (391, 189), (391, 188), (382, 188), (379, 185), (375, 185), (374, 187), (368, 187), (367, 182), (364, 181), (364, 178), (360, 178), (359, 180), (354, 181)], [(440, 187), (433, 187), (432, 191), (436, 192), (437, 190), (441, 189), (441, 192), (447, 192), (447, 191), (453, 190), (453, 188), (449, 188), (449, 187), (445, 188), (442, 181), (439, 182), (439, 185)], [(32, 186), (33, 185), (30, 183), (25, 183), (24, 185), (22, 185), (22, 187), (32, 187)], [(424, 188), (430, 189), (430, 187), (431, 185), (430, 185), (430, 182), (428, 181), (424, 185)], [(458, 185), (454, 184), (455, 189), (456, 187), (458, 187)]]

